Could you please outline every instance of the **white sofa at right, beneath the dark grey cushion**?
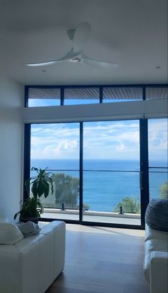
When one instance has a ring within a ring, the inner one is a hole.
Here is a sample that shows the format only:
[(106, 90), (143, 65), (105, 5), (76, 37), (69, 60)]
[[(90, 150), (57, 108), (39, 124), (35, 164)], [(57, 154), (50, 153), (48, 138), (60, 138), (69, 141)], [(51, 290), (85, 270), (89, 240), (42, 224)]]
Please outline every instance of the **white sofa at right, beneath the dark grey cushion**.
[(168, 292), (168, 232), (145, 226), (145, 279), (150, 293)]

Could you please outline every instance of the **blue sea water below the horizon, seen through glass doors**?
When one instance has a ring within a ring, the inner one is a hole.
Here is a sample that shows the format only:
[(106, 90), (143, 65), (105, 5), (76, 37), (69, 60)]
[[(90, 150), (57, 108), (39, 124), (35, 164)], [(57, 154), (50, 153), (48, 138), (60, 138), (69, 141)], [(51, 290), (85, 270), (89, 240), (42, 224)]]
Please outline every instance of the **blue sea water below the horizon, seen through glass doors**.
[[(154, 167), (167, 167), (156, 161)], [(79, 160), (31, 160), (31, 167), (48, 168), (53, 173), (65, 173), (79, 178)], [(167, 169), (149, 172), (150, 199), (159, 197), (159, 187), (167, 181)], [(140, 199), (140, 163), (136, 160), (84, 160), (83, 202), (90, 210), (113, 211), (125, 196)]]

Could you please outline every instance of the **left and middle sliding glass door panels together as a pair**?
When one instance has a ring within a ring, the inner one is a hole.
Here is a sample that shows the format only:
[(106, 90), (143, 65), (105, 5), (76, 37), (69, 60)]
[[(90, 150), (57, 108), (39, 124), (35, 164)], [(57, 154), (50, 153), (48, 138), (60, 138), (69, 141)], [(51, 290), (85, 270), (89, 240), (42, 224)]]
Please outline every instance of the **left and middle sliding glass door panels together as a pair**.
[(139, 120), (32, 124), (30, 138), (30, 167), (54, 182), (44, 218), (141, 225)]

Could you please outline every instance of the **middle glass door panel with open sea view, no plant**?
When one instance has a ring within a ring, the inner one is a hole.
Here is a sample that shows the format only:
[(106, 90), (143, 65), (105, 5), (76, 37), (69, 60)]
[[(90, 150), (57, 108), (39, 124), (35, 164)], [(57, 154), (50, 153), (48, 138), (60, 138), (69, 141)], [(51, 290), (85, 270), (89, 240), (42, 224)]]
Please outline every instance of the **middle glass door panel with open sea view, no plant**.
[(139, 120), (83, 123), (83, 221), (141, 225)]

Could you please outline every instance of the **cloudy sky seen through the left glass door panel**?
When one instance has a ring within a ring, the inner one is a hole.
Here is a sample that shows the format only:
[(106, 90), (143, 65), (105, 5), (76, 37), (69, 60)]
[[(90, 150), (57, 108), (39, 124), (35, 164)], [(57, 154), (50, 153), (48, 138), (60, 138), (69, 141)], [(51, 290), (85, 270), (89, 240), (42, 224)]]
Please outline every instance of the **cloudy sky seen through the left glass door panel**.
[(62, 124), (33, 125), (31, 158), (76, 158), (79, 152), (78, 128)]

